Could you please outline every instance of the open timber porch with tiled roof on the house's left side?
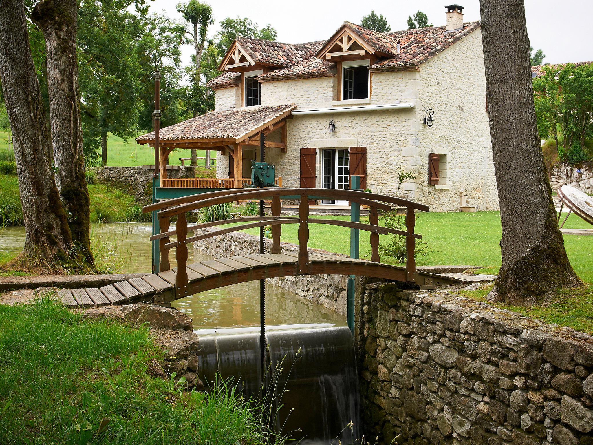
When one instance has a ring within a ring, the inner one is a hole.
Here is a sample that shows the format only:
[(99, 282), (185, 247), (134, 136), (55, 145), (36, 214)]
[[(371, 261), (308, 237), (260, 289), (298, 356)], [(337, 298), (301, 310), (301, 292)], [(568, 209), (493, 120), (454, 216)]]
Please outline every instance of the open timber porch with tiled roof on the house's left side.
[[(251, 160), (257, 159), (260, 134), (279, 134), (277, 141), (266, 141), (265, 147), (286, 152), (286, 120), (291, 119), (294, 104), (245, 107), (206, 113), (162, 128), (159, 138), (160, 187), (174, 188), (241, 188), (251, 183)], [(155, 146), (154, 132), (139, 136), (138, 144)], [(213, 150), (229, 155), (228, 174), (216, 179), (167, 177), (168, 157), (176, 148)], [(247, 154), (244, 157), (244, 153)], [(276, 179), (282, 187), (282, 178)]]

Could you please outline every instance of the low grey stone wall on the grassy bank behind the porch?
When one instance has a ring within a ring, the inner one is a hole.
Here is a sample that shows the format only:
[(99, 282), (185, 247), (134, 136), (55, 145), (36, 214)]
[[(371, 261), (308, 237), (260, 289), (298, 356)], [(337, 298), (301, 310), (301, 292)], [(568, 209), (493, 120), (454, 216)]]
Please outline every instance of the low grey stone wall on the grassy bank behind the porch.
[[(91, 167), (98, 182), (123, 187), (139, 204), (150, 204), (152, 199), (152, 173), (148, 166), (138, 167)], [(168, 166), (170, 178), (193, 177), (194, 168), (189, 166)]]

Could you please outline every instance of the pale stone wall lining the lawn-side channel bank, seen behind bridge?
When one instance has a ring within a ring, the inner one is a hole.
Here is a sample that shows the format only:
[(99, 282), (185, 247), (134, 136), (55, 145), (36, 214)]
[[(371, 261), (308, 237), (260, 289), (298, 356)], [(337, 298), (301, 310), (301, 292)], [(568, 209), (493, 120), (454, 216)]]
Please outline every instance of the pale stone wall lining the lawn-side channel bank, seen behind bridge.
[[(213, 231), (206, 228), (203, 231)], [(203, 233), (203, 232), (202, 232)], [(298, 253), (298, 246), (281, 243), (282, 252)], [(206, 240), (195, 241), (193, 248), (214, 258), (259, 253), (259, 236), (243, 232), (228, 233)], [(265, 240), (265, 250), (272, 249), (272, 240)], [(327, 253), (325, 250), (309, 249), (309, 252)], [(346, 315), (347, 275), (302, 275), (269, 278), (269, 281), (292, 291), (303, 298), (321, 304), (339, 314)]]

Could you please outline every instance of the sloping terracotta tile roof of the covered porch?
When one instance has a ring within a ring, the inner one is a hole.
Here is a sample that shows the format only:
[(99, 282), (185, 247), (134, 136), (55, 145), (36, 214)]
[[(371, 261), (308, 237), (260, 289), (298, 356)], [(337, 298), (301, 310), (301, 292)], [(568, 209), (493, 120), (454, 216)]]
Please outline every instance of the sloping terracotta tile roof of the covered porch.
[[(161, 141), (179, 139), (238, 139), (290, 110), (295, 104), (245, 107), (206, 113), (161, 129)], [(154, 132), (138, 136), (140, 144), (154, 141)]]

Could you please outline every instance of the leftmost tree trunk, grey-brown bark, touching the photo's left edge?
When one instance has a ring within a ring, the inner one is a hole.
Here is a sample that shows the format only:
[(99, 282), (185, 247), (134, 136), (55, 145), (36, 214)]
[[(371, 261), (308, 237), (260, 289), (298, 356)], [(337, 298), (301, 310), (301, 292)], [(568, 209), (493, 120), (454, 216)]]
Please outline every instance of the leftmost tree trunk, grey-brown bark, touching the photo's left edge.
[(50, 135), (22, 0), (0, 3), (0, 81), (12, 130), (18, 190), (23, 205), (23, 253), (43, 263), (66, 260), (72, 237), (52, 174)]

